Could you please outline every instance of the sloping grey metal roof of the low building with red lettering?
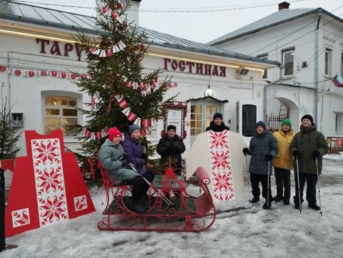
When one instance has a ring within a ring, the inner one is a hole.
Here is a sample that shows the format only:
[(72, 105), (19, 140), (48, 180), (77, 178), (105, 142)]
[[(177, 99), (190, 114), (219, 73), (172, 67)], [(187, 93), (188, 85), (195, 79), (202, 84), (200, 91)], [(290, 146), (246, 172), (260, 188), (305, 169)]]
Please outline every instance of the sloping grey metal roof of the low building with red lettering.
[[(21, 21), (28, 24), (69, 29), (72, 31), (78, 30), (89, 34), (96, 34), (101, 30), (101, 28), (96, 24), (96, 18), (92, 16), (73, 14), (67, 11), (59, 11), (16, 2), (0, 5), (0, 19), (9, 19), (11, 21)], [(182, 39), (177, 36), (164, 34), (152, 29), (146, 29), (143, 27), (139, 27), (139, 29), (146, 32), (146, 43), (148, 44), (166, 46), (174, 49), (183, 49), (203, 54), (225, 56), (234, 59), (257, 61), (264, 64), (279, 64), (277, 61), (259, 59), (254, 56), (247, 56), (234, 51), (219, 49), (214, 46), (209, 46), (207, 44), (202, 44), (188, 39)]]

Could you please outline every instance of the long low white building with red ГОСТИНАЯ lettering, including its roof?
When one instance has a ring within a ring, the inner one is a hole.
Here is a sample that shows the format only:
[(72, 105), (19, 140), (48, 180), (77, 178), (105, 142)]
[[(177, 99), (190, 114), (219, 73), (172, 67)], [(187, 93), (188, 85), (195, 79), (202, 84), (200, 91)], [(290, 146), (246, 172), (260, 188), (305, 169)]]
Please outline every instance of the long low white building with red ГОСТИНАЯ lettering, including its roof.
[[(139, 6), (139, 1), (134, 4)], [(4, 84), (4, 96), (13, 105), (14, 124), (23, 131), (46, 134), (53, 129), (64, 129), (64, 124), (84, 123), (85, 117), (76, 108), (86, 108), (85, 103), (90, 103), (91, 97), (72, 82), (73, 71), (81, 74), (87, 71), (86, 55), (73, 38), (76, 29), (90, 36), (99, 30), (94, 17), (1, 1), (0, 83)], [(252, 122), (262, 118), (266, 84), (262, 76), (264, 69), (277, 66), (277, 62), (144, 30), (148, 35), (146, 44), (150, 44), (144, 59), (146, 71), (164, 68), (163, 76), (173, 76), (172, 81), (177, 82), (166, 98), (179, 93), (176, 99), (179, 106), (174, 106), (175, 110), (186, 106), (184, 120), (174, 122), (184, 126), (180, 132), (187, 149), (217, 111), (224, 114), (227, 126), (238, 130), (238, 101), (257, 105), (256, 112), (249, 112)], [(178, 113), (174, 115), (178, 119)], [(156, 143), (165, 126), (166, 121), (160, 121), (149, 139)], [(78, 146), (76, 135), (66, 130), (64, 134), (66, 147)], [(20, 154), (25, 154), (24, 135), (20, 145)]]

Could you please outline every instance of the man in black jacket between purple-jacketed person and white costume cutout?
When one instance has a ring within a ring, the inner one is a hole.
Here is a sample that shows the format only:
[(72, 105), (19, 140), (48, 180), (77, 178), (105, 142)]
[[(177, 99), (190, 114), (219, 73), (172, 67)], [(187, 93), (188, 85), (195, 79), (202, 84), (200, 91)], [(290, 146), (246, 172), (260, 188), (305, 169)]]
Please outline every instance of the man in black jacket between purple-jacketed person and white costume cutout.
[(166, 134), (162, 139), (159, 140), (157, 144), (156, 152), (161, 155), (161, 164), (166, 164), (169, 157), (171, 159), (177, 159), (176, 172), (181, 174), (182, 172), (182, 157), (181, 154), (184, 153), (186, 147), (184, 147), (184, 142), (177, 134), (177, 127), (169, 124), (166, 128)]

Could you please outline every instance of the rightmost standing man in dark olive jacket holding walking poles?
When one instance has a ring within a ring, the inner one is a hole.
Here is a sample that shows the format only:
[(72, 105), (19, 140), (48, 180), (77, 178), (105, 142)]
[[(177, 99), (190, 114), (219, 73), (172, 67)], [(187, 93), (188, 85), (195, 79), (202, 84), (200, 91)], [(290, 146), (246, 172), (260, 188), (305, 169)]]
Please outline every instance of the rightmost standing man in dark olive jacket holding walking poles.
[[(304, 184), (307, 182), (306, 199), (309, 208), (320, 210), (317, 205), (316, 184), (322, 173), (322, 157), (327, 154), (329, 147), (324, 135), (317, 131), (311, 115), (302, 116), (300, 132), (294, 135), (289, 147), (294, 156), (294, 178), (296, 192), (294, 196), (294, 208), (300, 209)], [(319, 200), (320, 204), (320, 200)]]

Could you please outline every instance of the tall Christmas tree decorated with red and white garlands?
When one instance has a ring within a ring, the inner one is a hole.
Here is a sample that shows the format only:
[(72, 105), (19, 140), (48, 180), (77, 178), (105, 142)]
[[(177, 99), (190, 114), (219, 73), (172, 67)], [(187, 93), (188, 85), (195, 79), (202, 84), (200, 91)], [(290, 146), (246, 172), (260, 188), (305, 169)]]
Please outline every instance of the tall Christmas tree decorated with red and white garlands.
[(127, 23), (129, 1), (104, 0), (98, 6), (99, 34), (96, 38), (79, 34), (77, 40), (87, 53), (89, 76), (79, 76), (76, 84), (91, 96), (81, 134), (81, 149), (77, 153), (83, 169), (94, 172), (89, 157), (96, 157), (106, 139), (106, 130), (116, 126), (127, 132), (130, 124), (141, 126), (142, 134), (162, 116), (171, 99), (164, 101), (169, 80), (159, 82), (160, 69), (143, 73), (142, 60), (147, 47), (146, 34)]

